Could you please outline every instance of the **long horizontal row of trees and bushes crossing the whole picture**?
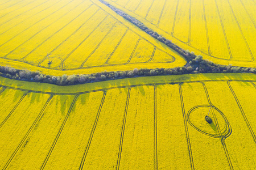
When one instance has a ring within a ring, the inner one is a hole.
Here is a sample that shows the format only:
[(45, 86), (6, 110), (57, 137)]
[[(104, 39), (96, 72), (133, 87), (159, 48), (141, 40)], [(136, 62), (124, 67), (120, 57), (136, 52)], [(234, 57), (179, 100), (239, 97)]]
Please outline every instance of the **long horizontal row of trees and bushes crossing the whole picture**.
[(13, 67), (0, 66), (0, 75), (10, 79), (26, 80), (30, 82), (43, 82), (61, 86), (100, 82), (121, 78), (133, 78), (138, 76), (154, 75), (179, 75), (196, 73), (256, 73), (255, 68), (236, 67), (232, 65), (217, 65), (211, 61), (204, 60), (202, 56), (195, 56), (193, 52), (187, 52), (190, 60), (187, 65), (175, 68), (156, 69), (133, 69), (130, 71), (103, 71), (94, 74), (62, 75), (53, 76), (42, 74), (39, 71), (18, 70)]

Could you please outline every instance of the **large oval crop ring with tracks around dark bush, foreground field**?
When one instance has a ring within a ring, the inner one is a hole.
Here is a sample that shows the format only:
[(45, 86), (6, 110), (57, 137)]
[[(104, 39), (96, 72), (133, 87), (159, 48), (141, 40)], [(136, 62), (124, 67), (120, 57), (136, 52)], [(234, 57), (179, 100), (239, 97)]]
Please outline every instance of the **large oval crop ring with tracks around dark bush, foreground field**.
[[(205, 121), (205, 116), (209, 112), (212, 123)], [(212, 105), (197, 105), (189, 110), (187, 114), (189, 124), (203, 134), (214, 138), (227, 138), (232, 129), (224, 114)]]

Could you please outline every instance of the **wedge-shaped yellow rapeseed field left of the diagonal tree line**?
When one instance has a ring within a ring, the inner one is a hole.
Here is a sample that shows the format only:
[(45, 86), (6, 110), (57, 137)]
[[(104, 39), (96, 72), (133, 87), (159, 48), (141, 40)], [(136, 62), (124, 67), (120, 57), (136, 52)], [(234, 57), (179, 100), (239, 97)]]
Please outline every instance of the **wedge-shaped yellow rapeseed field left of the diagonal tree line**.
[(3, 66), (63, 75), (185, 64), (99, 1), (13, 0), (0, 10)]

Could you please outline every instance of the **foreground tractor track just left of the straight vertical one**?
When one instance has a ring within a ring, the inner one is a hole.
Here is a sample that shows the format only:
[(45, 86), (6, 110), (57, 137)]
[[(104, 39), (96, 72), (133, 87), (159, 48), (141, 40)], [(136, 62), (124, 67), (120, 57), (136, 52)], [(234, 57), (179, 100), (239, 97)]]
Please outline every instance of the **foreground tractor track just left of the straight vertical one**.
[(127, 111), (128, 111), (129, 101), (130, 101), (131, 88), (132, 87), (129, 87), (128, 92), (127, 92), (127, 99), (126, 99), (126, 104), (125, 104), (125, 114), (123, 115), (123, 123), (122, 123), (121, 137), (120, 137), (118, 157), (117, 157), (117, 167), (115, 167), (115, 169), (119, 169), (120, 162), (121, 162), (123, 137), (125, 135), (125, 124), (126, 124)]

